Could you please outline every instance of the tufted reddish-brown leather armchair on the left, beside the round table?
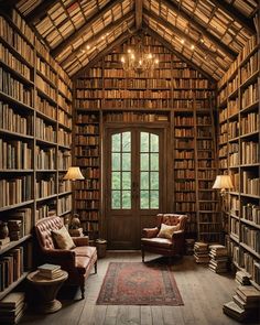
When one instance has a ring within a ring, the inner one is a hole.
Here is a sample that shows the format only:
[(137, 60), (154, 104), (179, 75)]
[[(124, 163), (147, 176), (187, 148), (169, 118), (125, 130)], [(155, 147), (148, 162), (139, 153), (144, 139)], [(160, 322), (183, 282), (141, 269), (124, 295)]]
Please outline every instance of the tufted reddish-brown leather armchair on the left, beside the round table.
[(43, 218), (35, 225), (40, 251), (39, 262), (61, 266), (63, 270), (68, 272), (66, 283), (79, 285), (84, 299), (85, 279), (94, 266), (95, 273), (97, 273), (97, 249), (88, 245), (88, 237), (73, 237), (76, 247), (71, 250), (55, 248), (52, 230), (58, 230), (62, 227), (63, 219), (57, 216)]

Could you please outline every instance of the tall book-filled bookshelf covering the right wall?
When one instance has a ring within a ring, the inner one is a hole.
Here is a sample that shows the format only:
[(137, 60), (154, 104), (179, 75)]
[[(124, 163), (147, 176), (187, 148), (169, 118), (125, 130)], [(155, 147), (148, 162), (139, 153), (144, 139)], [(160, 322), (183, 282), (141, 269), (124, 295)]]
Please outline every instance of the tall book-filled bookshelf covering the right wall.
[[(232, 176), (226, 221), (227, 243), (234, 264), (245, 270), (260, 288), (260, 121), (259, 121), (259, 45), (252, 36), (228, 73), (219, 82), (220, 169)], [(227, 163), (224, 160), (227, 160)]]

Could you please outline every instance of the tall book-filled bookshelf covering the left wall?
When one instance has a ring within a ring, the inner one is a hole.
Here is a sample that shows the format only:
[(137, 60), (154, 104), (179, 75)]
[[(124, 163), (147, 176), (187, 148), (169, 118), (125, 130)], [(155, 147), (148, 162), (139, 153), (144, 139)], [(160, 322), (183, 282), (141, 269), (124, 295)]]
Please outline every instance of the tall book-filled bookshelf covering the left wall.
[[(72, 210), (72, 83), (12, 11), (0, 14), (0, 299), (32, 269), (32, 228), (51, 213)], [(8, 272), (9, 270), (9, 272)]]

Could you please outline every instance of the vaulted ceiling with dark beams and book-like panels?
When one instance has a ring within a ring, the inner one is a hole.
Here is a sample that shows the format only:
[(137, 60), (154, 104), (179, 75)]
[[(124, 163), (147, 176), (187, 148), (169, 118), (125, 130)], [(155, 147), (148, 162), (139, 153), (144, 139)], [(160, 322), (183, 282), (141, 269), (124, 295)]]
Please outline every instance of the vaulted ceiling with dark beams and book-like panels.
[(73, 76), (141, 30), (219, 80), (256, 33), (258, 0), (9, 0)]

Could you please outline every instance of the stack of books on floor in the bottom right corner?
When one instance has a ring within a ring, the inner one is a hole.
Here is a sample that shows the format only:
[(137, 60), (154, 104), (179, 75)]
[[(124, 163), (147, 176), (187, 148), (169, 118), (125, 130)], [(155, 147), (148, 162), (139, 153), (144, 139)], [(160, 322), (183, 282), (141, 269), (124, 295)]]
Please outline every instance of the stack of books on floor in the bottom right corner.
[(260, 291), (253, 285), (239, 285), (232, 301), (224, 304), (223, 311), (228, 316), (242, 322), (259, 317)]

